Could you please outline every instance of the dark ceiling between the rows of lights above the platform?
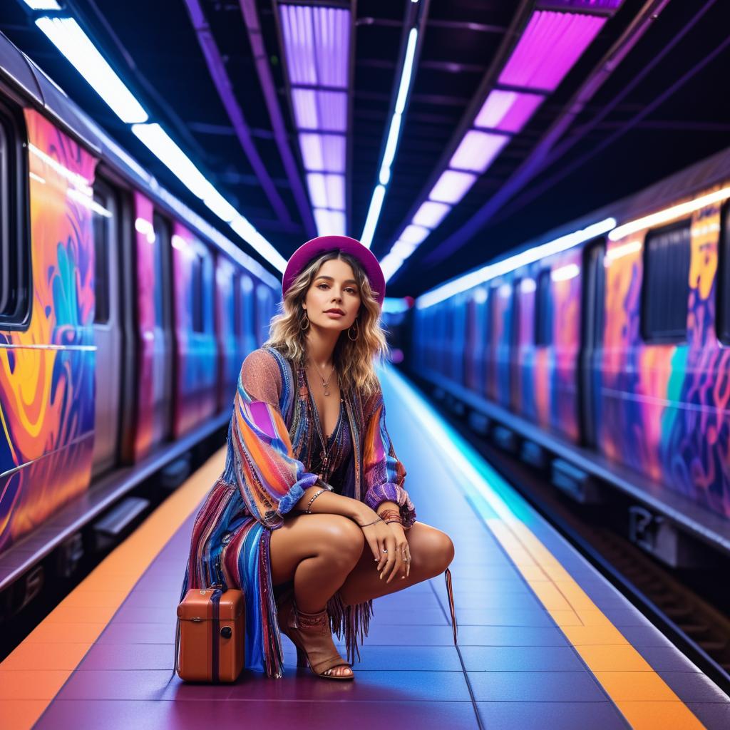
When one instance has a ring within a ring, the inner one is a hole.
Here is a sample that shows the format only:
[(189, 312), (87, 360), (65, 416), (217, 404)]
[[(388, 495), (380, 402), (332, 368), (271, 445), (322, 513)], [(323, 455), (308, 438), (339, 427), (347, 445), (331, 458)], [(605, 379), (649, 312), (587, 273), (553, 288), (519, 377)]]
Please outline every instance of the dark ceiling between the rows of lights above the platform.
[[(188, 12), (189, 0), (68, 0), (65, 4), (150, 115), (288, 258), (311, 237), (312, 219), (307, 220), (297, 204), (292, 171), (277, 145), (242, 14), (243, 1), (196, 0), (195, 4), (223, 58), (258, 163), (245, 153), (230, 110), (212, 81)], [(362, 232), (377, 183), (409, 4), (408, 0), (359, 0), (355, 6), (348, 231), (354, 237)], [(725, 1), (656, 2), (661, 9), (656, 20), (555, 140), (544, 169), (523, 184), (510, 186), (510, 196), (500, 194), (500, 204), (485, 209), (529, 160), (553, 123), (565, 115), (572, 96), (646, 5), (647, 0), (623, 2), (526, 128), (396, 272), (388, 283), (389, 296), (418, 296), (728, 145), (730, 105), (725, 86), (730, 44)], [(250, 6), (257, 11), (285, 142), (301, 186), (304, 169), (287, 99), (274, 4), (251, 0)], [(430, 0), (401, 142), (372, 242), (379, 258), (410, 222), (424, 184), (455, 131), (463, 126), (469, 107), (473, 108), (475, 94), (501, 45), (509, 41), (505, 34), (518, 7), (517, 0)], [(91, 91), (34, 26), (23, 4), (0, 3), (0, 30), (155, 177), (233, 237)], [(477, 212), (480, 218), (474, 219)]]

